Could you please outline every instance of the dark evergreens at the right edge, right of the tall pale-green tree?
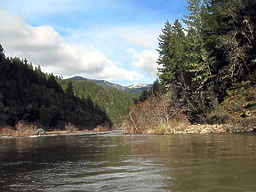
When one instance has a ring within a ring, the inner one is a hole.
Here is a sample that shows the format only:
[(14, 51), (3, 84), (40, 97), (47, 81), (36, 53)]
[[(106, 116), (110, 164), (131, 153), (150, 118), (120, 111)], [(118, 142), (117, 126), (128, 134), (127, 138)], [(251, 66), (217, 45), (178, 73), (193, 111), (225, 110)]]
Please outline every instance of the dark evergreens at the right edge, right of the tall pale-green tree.
[(218, 101), (226, 89), (240, 81), (255, 81), (256, 2), (254, 0), (205, 1), (205, 42), (214, 64), (214, 92)]

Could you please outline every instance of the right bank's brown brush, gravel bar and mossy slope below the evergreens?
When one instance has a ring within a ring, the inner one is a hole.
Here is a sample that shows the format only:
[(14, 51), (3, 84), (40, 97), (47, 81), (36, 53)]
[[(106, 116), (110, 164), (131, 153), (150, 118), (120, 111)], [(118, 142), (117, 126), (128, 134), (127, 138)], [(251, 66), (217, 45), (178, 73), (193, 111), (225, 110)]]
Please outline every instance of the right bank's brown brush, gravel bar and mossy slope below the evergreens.
[(230, 89), (218, 107), (194, 123), (185, 115), (186, 109), (177, 107), (170, 98), (168, 94), (153, 94), (146, 101), (137, 104), (123, 122), (122, 129), (130, 134), (163, 135), (256, 131), (255, 84), (247, 82)]

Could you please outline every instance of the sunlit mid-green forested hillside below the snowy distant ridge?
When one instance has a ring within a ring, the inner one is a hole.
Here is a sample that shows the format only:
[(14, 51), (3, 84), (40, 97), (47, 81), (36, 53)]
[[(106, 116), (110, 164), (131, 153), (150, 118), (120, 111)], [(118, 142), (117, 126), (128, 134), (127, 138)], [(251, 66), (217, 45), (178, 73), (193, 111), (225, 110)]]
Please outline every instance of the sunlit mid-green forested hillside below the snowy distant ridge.
[[(65, 89), (68, 80), (59, 80)], [(97, 85), (92, 81), (71, 80), (74, 86), (75, 95), (80, 98), (91, 98), (95, 103), (103, 108), (113, 123), (121, 122), (124, 115), (127, 115), (130, 108), (134, 105), (134, 98), (137, 94), (131, 94), (117, 89), (107, 89)]]

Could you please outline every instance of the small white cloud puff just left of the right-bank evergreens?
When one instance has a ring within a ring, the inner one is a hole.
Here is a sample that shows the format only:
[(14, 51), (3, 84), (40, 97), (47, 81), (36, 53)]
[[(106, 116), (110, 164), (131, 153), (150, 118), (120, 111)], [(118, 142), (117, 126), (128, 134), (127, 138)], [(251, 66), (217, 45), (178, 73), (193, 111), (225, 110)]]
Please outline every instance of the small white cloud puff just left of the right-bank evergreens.
[(128, 49), (127, 51), (131, 53), (133, 58), (135, 59), (135, 61), (133, 61), (133, 65), (143, 69), (151, 77), (156, 76), (156, 73), (157, 73), (156, 61), (158, 58), (158, 54), (156, 53), (156, 51), (142, 50), (141, 52), (138, 52), (131, 48)]

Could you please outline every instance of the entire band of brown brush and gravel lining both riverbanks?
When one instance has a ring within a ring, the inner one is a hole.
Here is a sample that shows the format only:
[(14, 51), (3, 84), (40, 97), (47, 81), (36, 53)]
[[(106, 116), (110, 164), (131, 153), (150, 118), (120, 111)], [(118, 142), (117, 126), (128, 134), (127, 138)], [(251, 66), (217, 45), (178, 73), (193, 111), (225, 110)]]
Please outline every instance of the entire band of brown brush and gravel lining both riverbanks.
[[(154, 87), (152, 88), (153, 92)], [(256, 85), (242, 83), (228, 91), (225, 100), (209, 112), (201, 122), (191, 123), (185, 109), (175, 106), (168, 94), (152, 95), (131, 110), (122, 125), (98, 125), (94, 129), (65, 124), (62, 129), (45, 131), (38, 123), (19, 121), (15, 127), (0, 127), (0, 136), (28, 137), (44, 135), (110, 134), (121, 128), (123, 134), (226, 134), (256, 131)]]

